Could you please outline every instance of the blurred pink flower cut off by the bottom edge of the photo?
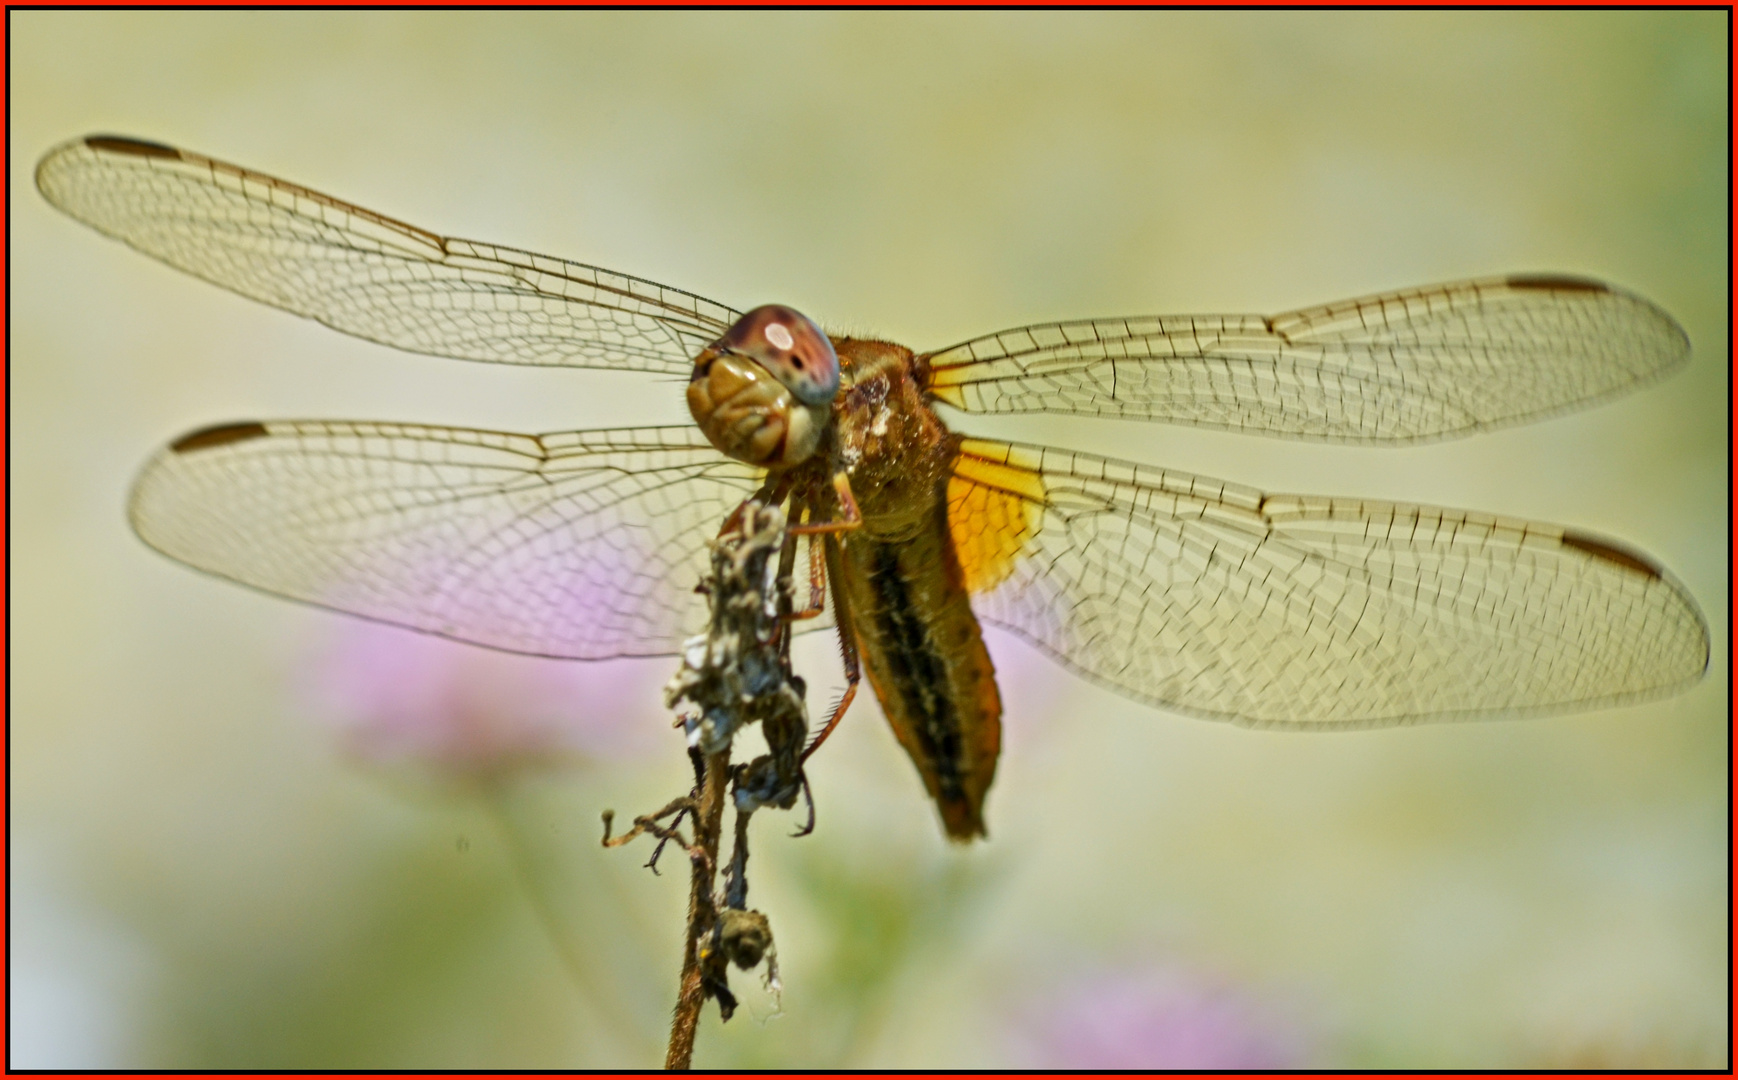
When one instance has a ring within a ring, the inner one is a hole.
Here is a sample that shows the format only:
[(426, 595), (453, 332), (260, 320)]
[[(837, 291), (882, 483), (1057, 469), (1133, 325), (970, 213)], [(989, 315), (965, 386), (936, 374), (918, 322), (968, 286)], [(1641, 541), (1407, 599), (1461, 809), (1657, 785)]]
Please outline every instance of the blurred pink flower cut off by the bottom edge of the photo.
[(1283, 1002), (1175, 965), (1062, 977), (1017, 1007), (1025, 1068), (1305, 1068), (1309, 1031)]

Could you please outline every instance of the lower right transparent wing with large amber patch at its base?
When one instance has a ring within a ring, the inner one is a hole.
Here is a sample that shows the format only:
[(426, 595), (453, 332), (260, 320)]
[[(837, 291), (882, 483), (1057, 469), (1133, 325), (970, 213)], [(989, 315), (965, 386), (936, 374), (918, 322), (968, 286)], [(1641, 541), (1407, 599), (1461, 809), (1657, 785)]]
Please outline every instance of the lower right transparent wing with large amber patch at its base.
[(1682, 586), (1554, 525), (984, 440), (963, 443), (949, 525), (982, 619), (1123, 694), (1239, 723), (1616, 703), (1708, 659)]

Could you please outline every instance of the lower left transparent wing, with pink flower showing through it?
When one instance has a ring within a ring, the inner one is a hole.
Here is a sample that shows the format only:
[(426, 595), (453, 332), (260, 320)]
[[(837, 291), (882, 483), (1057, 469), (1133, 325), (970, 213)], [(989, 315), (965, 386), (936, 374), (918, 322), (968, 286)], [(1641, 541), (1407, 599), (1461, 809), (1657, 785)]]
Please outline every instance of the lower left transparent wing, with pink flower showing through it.
[(761, 475), (687, 426), (245, 423), (160, 450), (130, 517), (295, 600), (513, 652), (660, 656), (704, 628), (707, 541)]

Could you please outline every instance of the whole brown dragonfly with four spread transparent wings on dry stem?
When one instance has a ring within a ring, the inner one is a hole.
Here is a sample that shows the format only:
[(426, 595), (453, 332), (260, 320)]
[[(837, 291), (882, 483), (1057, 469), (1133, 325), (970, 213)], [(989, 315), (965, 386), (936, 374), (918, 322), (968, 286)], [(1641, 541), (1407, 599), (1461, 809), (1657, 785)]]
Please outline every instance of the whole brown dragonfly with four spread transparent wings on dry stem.
[(667, 656), (704, 626), (693, 586), (720, 523), (772, 499), (812, 567), (805, 628), (836, 628), (845, 657), (822, 737), (867, 673), (954, 840), (985, 835), (1001, 746), (984, 623), (1163, 710), (1312, 730), (1608, 706), (1708, 663), (1689, 591), (1582, 529), (1267, 494), (944, 423), (1060, 412), (1408, 445), (1536, 421), (1689, 355), (1670, 315), (1595, 280), (1050, 322), (919, 353), (443, 237), (143, 139), (64, 143), (36, 186), (155, 259), (356, 337), (687, 381), (693, 426), (200, 428), (132, 489), (149, 546), (461, 642)]

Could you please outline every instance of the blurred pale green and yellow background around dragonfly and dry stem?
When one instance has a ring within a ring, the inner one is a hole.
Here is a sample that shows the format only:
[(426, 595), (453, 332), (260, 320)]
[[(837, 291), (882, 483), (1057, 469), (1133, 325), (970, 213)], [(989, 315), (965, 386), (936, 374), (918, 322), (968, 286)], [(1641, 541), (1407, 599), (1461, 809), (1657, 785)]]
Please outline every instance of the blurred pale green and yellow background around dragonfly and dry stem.
[[(1665, 701), (1251, 732), (989, 631), (991, 840), (869, 697), (819, 830), (754, 824), (782, 997), (699, 1066), (1722, 1066), (1722, 12), (9, 12), (10, 1064), (655, 1066), (687, 873), (669, 661), (368, 628), (146, 550), (163, 440), (245, 417), (681, 423), (680, 393), (346, 339), (56, 214), (63, 139), (186, 146), (459, 237), (937, 348), (1550, 270), (1688, 329), (1668, 381), (1401, 450), (961, 423), (1267, 490), (1573, 523), (1714, 630)], [(833, 645), (798, 650), (813, 701)], [(819, 706), (815, 706), (819, 708)]]

